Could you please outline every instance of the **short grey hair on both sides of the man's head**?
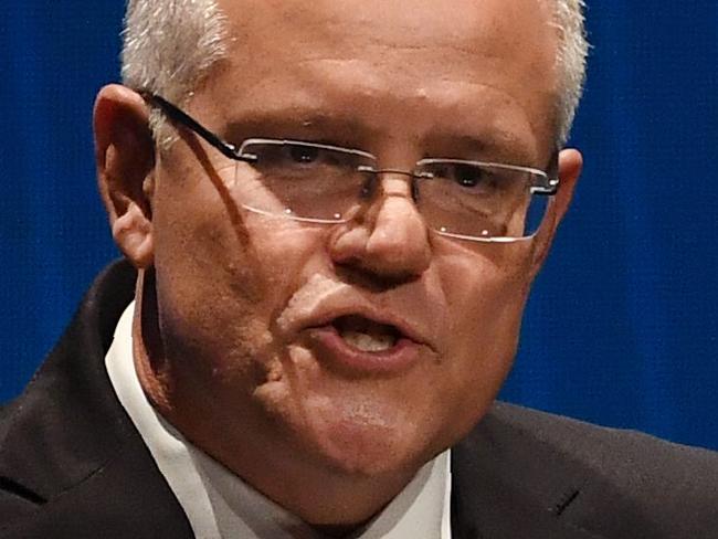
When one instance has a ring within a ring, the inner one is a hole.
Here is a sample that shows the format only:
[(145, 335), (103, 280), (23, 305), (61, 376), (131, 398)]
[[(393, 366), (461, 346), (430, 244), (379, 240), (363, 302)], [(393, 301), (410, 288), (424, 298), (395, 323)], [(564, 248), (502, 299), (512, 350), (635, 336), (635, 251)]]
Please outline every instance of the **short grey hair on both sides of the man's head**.
[[(589, 45), (583, 0), (549, 1), (556, 4), (559, 35), (556, 142), (562, 147), (583, 93)], [(191, 98), (229, 49), (226, 20), (217, 0), (128, 0), (123, 41), (124, 83), (179, 105)], [(172, 138), (160, 135), (161, 125), (160, 114), (154, 112), (150, 126), (167, 146)]]

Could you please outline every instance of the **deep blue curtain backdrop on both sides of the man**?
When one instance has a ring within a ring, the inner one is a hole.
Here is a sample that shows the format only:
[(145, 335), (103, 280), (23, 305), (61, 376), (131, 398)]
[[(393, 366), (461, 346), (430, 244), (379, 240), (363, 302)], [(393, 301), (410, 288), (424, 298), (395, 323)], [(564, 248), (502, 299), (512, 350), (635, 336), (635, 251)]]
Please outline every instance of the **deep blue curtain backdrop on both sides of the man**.
[[(718, 448), (718, 2), (589, 0), (585, 172), (503, 398)], [(1, 0), (0, 401), (117, 256), (91, 109), (120, 1)]]

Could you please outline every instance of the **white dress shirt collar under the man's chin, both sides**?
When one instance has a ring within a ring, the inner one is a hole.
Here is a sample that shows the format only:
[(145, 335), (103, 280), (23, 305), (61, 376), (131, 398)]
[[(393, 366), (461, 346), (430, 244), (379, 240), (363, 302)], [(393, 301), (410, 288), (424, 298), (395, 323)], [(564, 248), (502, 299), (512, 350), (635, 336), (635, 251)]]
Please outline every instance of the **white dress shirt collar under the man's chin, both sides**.
[[(133, 302), (105, 358), (119, 402), (201, 539), (318, 539), (321, 536), (200, 448), (149, 403), (133, 360)], [(426, 463), (356, 539), (451, 539), (450, 452)]]

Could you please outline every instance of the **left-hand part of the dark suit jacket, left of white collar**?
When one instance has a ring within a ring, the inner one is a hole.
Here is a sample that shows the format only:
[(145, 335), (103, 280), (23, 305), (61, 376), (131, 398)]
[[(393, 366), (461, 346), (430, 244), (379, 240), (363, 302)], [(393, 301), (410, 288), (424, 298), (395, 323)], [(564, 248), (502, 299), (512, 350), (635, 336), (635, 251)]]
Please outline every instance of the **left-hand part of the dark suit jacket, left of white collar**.
[(136, 274), (107, 267), (22, 394), (0, 410), (0, 537), (191, 537), (104, 358)]

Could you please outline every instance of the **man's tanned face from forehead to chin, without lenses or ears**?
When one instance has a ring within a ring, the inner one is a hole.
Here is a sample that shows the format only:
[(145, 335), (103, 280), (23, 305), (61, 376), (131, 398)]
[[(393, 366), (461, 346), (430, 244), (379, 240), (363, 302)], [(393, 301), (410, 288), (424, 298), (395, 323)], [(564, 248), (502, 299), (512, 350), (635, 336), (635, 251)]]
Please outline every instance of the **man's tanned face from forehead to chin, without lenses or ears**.
[[(231, 142), (327, 142), (402, 170), (423, 157), (549, 162), (555, 36), (539, 1), (222, 8), (231, 57), (188, 110)], [(463, 436), (507, 374), (555, 223), (514, 244), (442, 237), (390, 173), (356, 221), (307, 224), (243, 210), (233, 170), (184, 134), (155, 171), (172, 421), (230, 467), (362, 476), (413, 471)]]

